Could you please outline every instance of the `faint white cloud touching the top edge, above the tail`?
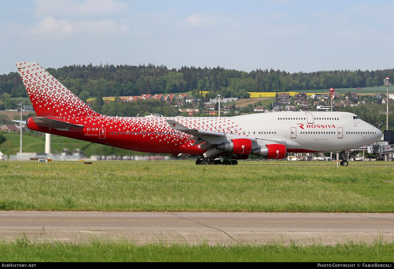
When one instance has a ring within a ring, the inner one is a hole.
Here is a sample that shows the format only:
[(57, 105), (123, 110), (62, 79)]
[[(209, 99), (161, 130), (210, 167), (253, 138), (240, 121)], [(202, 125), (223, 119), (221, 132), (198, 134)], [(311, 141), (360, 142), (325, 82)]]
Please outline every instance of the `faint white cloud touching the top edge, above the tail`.
[(121, 11), (126, 5), (114, 0), (35, 0), (35, 11), (54, 15), (108, 15)]

